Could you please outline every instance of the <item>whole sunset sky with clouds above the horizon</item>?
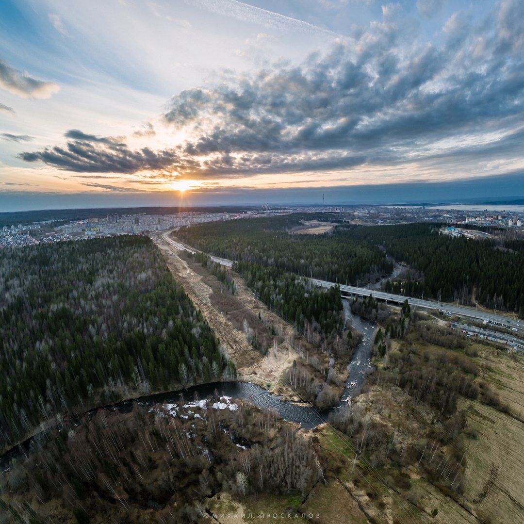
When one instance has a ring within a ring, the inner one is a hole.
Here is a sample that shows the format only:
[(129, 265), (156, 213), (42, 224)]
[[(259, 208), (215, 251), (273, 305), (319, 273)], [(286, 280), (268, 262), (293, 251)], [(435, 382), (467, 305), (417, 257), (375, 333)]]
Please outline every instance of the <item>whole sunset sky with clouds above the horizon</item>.
[(524, 195), (521, 0), (3, 0), (0, 212)]

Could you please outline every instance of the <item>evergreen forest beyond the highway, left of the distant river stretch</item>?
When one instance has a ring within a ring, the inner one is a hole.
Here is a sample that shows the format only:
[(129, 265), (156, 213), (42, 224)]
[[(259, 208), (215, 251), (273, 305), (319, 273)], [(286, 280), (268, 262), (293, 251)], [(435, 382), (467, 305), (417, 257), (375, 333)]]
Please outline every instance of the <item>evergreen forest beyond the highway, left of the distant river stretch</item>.
[(335, 220), (330, 214), (293, 213), (261, 219), (208, 222), (182, 227), (178, 236), (193, 247), (236, 261), (275, 266), (297, 275), (340, 284), (389, 274), (393, 267), (372, 242), (331, 234), (294, 235), (301, 220)]

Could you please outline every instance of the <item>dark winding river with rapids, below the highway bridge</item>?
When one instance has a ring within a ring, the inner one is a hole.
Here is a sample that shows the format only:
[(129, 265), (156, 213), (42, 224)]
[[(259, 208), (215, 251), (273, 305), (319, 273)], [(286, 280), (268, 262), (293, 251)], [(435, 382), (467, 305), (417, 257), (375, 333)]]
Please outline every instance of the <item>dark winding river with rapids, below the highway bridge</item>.
[[(351, 402), (351, 399), (358, 395), (366, 380), (366, 376), (372, 371), (371, 353), (377, 330), (376, 322), (370, 322), (357, 315), (353, 315), (349, 301), (344, 299), (342, 302), (346, 320), (351, 321), (353, 327), (363, 334), (363, 338), (362, 342), (356, 347), (352, 361), (348, 365), (349, 374), (340, 401), (332, 410), (340, 409), (347, 402)], [(319, 412), (313, 406), (300, 405), (292, 401), (282, 400), (280, 396), (273, 395), (266, 389), (250, 382), (215, 382), (212, 384), (202, 384), (181, 391), (171, 391), (168, 393), (144, 396), (135, 400), (125, 400), (111, 406), (106, 406), (105, 408), (117, 410), (121, 413), (128, 413), (133, 409), (134, 402), (137, 402), (139, 406), (151, 408), (157, 404), (176, 403), (180, 400), (217, 399), (220, 396), (241, 398), (261, 409), (275, 409), (280, 417), (291, 422), (299, 423), (302, 428), (314, 428), (326, 422), (330, 413), (330, 411)], [(95, 411), (96, 410), (89, 411), (88, 413), (95, 413)], [(35, 447), (37, 440), (38, 435), (31, 437), (0, 457), (0, 473), (7, 471), (12, 459), (17, 458), (23, 453), (30, 453), (32, 448)]]

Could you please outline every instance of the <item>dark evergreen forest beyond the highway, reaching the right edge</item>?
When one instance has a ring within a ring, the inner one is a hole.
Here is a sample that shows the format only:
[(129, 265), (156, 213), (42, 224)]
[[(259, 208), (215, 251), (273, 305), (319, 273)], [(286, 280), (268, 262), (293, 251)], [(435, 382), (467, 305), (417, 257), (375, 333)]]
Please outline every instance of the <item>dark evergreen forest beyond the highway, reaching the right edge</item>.
[[(452, 238), (439, 234), (440, 224), (405, 224), (339, 228), (336, 235), (381, 246), (413, 271), (389, 282), (386, 291), (406, 296), (459, 300), (524, 318), (524, 241), (499, 242)], [(501, 244), (501, 245), (499, 245)]]

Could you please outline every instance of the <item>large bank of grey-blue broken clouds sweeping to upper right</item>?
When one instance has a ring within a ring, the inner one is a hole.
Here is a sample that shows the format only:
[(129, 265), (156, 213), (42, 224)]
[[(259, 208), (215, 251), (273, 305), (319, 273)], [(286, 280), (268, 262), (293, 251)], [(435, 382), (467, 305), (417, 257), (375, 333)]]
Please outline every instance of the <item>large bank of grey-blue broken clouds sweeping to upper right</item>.
[[(417, 5), (431, 17), (442, 2)], [(73, 172), (174, 170), (200, 178), (398, 166), (442, 171), (520, 158), (524, 3), (506, 0), (480, 23), (472, 19), (455, 13), (439, 45), (419, 44), (388, 5), (367, 30), (300, 65), (224, 72), (214, 84), (172, 97), (160, 123), (183, 133), (182, 141), (132, 149), (122, 139), (70, 130), (65, 146), (20, 158)], [(147, 130), (135, 136), (155, 135)]]

